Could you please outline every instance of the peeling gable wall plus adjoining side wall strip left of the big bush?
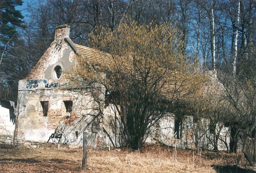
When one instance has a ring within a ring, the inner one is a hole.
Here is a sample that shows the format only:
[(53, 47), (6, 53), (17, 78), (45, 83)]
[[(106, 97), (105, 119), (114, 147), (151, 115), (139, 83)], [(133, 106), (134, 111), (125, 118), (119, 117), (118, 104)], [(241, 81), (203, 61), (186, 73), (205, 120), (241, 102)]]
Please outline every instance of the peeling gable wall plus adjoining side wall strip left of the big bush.
[[(82, 134), (87, 131), (89, 133), (88, 145), (93, 147), (110, 146), (112, 143), (103, 129), (110, 133), (111, 138), (115, 136), (111, 132), (111, 128), (108, 127), (113, 112), (111, 108), (104, 109), (106, 114), (104, 119), (101, 120), (101, 116), (94, 119), (91, 115), (97, 116), (99, 111), (96, 109), (97, 104), (92, 101), (91, 92), (61, 89), (60, 87), (66, 82), (65, 78), (61, 75), (58, 79), (54, 74), (55, 66), (60, 66), (63, 72), (75, 64), (74, 51), (64, 41), (63, 35), (66, 32), (63, 28), (56, 30), (55, 41), (27, 78), (19, 81), (18, 139), (47, 141), (57, 128), (63, 132), (62, 142), (64, 143), (82, 145)], [(102, 86), (99, 88), (104, 90)], [(105, 91), (101, 91), (101, 93), (105, 93)], [(100, 97), (104, 99), (104, 95), (100, 95)], [(66, 112), (64, 100), (73, 101), (71, 113)], [(43, 115), (40, 101), (48, 101), (47, 116)]]

